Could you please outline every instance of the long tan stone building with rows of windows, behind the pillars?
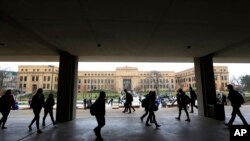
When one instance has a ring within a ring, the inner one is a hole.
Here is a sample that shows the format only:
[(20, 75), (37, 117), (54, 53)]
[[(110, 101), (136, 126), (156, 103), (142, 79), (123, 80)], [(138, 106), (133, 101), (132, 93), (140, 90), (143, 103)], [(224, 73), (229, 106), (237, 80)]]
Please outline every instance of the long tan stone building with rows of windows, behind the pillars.
[[(58, 67), (19, 66), (17, 86), (23, 93), (34, 92), (37, 88), (57, 90)], [(215, 66), (216, 87), (221, 90), (229, 82), (226, 66)], [(139, 71), (136, 67), (117, 67), (115, 71), (79, 71), (78, 93), (93, 90), (117, 91), (123, 89), (134, 92), (175, 92), (179, 88), (187, 90), (195, 87), (194, 69), (178, 73), (174, 71)]]

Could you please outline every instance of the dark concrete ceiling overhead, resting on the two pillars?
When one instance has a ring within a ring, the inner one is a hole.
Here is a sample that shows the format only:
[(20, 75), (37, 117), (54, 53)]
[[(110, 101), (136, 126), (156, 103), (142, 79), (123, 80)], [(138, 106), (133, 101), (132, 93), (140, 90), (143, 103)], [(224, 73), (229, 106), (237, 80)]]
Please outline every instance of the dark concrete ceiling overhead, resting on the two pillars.
[(0, 61), (250, 62), (248, 0), (0, 0)]

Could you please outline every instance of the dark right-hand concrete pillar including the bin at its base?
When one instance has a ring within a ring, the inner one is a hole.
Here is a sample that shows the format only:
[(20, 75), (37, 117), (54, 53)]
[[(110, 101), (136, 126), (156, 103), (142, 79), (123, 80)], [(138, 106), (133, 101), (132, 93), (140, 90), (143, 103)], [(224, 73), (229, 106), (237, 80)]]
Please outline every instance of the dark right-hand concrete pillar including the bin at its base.
[(224, 120), (224, 106), (216, 103), (212, 56), (194, 58), (194, 66), (199, 115)]

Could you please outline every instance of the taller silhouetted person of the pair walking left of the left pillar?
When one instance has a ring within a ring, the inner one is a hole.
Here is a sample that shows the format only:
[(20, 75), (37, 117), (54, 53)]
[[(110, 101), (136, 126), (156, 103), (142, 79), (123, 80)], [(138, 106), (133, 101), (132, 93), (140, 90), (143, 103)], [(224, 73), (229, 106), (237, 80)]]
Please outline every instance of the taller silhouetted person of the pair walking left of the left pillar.
[(40, 119), (40, 112), (43, 106), (44, 106), (43, 89), (39, 88), (36, 94), (32, 97), (31, 108), (33, 109), (33, 113), (35, 116), (29, 125), (29, 130), (32, 130), (31, 128), (32, 124), (36, 121), (36, 128), (38, 134), (42, 133), (39, 127), (39, 119)]

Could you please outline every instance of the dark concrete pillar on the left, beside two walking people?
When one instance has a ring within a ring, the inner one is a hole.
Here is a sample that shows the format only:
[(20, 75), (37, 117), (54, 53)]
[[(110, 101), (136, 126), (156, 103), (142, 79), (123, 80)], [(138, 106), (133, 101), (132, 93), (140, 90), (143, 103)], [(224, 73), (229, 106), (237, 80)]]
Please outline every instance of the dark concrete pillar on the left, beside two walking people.
[(75, 119), (77, 94), (78, 57), (61, 52), (58, 77), (56, 120)]

